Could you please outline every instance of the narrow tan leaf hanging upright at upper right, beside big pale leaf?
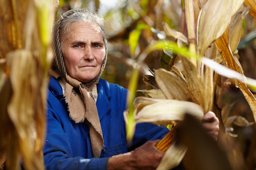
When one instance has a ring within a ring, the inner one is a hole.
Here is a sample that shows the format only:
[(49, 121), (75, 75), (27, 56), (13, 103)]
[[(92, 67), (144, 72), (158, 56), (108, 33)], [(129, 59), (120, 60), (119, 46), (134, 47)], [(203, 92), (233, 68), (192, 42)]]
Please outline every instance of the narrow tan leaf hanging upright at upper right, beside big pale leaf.
[(231, 19), (229, 26), (229, 45), (232, 53), (235, 52), (241, 39), (242, 14), (237, 12)]

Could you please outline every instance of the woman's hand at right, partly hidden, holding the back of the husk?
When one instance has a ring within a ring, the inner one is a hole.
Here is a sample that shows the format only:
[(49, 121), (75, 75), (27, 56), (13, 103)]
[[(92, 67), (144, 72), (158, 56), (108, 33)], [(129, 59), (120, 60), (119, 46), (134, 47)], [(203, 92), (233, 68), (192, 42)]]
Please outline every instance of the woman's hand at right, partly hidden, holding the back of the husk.
[(207, 133), (216, 140), (218, 138), (218, 130), (220, 129), (218, 125), (218, 118), (213, 112), (207, 112), (204, 114), (202, 126), (207, 130)]

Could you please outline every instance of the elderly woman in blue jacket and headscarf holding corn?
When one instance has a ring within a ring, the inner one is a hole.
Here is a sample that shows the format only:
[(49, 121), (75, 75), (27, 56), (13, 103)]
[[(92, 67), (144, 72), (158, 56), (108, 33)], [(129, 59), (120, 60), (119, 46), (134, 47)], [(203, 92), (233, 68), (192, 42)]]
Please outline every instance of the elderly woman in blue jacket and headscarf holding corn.
[[(68, 11), (55, 23), (46, 169), (155, 169), (164, 155), (155, 145), (169, 130), (148, 123), (137, 125), (128, 151), (127, 90), (100, 79), (107, 56), (103, 24), (86, 10)], [(216, 137), (218, 120), (206, 115), (205, 126)]]

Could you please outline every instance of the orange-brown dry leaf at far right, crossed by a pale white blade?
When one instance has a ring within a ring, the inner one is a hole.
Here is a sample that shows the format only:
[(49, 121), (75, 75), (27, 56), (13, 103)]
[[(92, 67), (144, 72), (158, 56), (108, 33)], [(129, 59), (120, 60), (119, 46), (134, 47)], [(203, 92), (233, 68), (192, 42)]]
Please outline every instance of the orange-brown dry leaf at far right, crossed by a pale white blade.
[[(226, 29), (224, 34), (215, 41), (217, 49), (220, 51), (226, 66), (229, 69), (235, 70), (238, 73), (242, 74), (241, 67), (237, 64), (236, 60), (233, 57), (233, 54), (229, 48), (229, 29)], [(250, 105), (251, 111), (253, 111), (254, 120), (256, 121), (256, 99), (253, 94), (251, 94), (250, 90), (246, 87), (245, 83), (242, 83), (240, 80), (235, 79), (237, 86), (242, 91), (245, 99)]]

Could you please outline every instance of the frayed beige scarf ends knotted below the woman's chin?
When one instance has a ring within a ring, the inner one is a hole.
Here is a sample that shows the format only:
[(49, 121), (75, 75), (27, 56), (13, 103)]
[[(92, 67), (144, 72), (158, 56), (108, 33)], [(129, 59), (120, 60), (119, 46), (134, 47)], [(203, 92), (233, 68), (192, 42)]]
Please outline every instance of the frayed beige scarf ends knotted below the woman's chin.
[[(49, 75), (56, 79), (62, 79), (59, 73), (50, 69)], [(98, 83), (98, 81), (96, 82)], [(96, 83), (94, 86), (96, 86)], [(76, 88), (75, 88), (76, 87)], [(96, 101), (90, 92), (93, 86), (89, 88), (67, 75), (65, 81), (65, 101), (68, 104), (69, 117), (76, 123), (85, 122), (89, 127), (90, 142), (94, 158), (99, 158), (101, 150), (104, 147), (104, 140), (102, 136), (100, 119), (98, 117)]]

